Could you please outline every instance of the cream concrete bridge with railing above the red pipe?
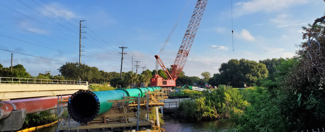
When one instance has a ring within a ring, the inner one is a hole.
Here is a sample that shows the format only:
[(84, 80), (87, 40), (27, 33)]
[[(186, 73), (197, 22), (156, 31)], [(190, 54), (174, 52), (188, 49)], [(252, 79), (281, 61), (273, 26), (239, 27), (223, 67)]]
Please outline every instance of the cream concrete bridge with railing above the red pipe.
[(69, 95), (87, 89), (87, 81), (0, 77), (2, 100)]

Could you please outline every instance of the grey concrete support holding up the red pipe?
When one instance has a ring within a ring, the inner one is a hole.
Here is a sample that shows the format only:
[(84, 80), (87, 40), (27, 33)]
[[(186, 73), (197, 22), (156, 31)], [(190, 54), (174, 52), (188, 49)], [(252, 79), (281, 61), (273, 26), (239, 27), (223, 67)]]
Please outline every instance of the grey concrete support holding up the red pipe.
[(12, 111), (6, 119), (0, 120), (0, 131), (16, 131), (24, 124), (26, 110)]

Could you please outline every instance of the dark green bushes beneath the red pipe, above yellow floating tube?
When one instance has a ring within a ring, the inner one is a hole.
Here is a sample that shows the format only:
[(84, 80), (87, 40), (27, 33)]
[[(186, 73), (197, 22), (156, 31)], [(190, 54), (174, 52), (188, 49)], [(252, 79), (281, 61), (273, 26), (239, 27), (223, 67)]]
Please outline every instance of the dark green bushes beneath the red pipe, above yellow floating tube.
[(51, 114), (49, 111), (40, 112), (39, 114), (26, 114), (23, 127), (45, 125), (56, 120), (58, 120), (58, 118), (55, 115)]

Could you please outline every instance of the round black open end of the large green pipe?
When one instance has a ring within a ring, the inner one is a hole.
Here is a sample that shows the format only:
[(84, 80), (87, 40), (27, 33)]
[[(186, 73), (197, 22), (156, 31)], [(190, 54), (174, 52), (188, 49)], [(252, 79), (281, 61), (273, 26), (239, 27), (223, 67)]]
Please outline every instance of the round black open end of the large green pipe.
[(96, 94), (89, 90), (79, 90), (72, 94), (68, 103), (70, 117), (80, 123), (94, 120), (99, 112), (99, 101)]

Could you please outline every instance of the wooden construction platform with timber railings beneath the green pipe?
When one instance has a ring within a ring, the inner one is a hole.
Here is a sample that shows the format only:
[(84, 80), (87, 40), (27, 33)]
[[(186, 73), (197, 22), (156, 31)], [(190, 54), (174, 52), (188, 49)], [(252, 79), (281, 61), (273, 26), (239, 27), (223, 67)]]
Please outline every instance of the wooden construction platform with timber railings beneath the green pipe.
[[(107, 100), (113, 102), (110, 111), (98, 115), (96, 119), (88, 123), (78, 123), (72, 120), (69, 115), (62, 116), (65, 111), (61, 111), (58, 113), (58, 119), (61, 119), (58, 122), (58, 130), (59, 132), (68, 132), (69, 130), (79, 132), (134, 132), (135, 130), (138, 132), (165, 132), (165, 129), (159, 127), (159, 120), (156, 122), (158, 126), (155, 125), (154, 121), (149, 120), (149, 113), (152, 107), (156, 107), (157, 115), (157, 108), (164, 105), (158, 100), (166, 98), (163, 92), (157, 90), (147, 92), (146, 98), (126, 96), (123, 99)], [(60, 100), (58, 104), (67, 103), (68, 100)]]

